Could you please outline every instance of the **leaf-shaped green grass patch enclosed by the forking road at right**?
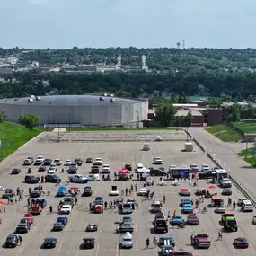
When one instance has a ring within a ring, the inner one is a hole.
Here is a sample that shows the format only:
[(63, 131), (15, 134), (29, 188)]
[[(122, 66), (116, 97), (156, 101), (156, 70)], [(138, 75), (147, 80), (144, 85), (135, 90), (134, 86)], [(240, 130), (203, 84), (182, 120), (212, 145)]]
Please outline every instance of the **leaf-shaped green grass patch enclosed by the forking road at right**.
[(207, 132), (224, 142), (238, 141), (243, 139), (238, 132), (226, 125), (209, 127), (207, 128)]

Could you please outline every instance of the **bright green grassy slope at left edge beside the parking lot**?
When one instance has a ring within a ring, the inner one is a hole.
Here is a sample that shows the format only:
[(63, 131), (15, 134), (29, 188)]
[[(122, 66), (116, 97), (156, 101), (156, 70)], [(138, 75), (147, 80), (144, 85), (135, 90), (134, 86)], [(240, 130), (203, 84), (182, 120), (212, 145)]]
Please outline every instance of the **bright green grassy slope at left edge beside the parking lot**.
[[(38, 136), (42, 131), (43, 130), (40, 129), (30, 130), (18, 124), (4, 122), (2, 142), (2, 145), (5, 146), (4, 158), (10, 154), (13, 154), (13, 152), (16, 151), (20, 146), (31, 140), (31, 138)], [(1, 160), (2, 155), (0, 155), (0, 161)]]

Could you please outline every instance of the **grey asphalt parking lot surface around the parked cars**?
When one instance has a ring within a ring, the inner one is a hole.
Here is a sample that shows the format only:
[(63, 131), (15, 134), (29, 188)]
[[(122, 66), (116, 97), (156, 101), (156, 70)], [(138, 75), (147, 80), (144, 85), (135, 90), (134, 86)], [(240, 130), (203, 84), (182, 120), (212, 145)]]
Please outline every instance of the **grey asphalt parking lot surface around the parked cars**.
[[(132, 137), (132, 132), (130, 133)], [(132, 164), (133, 167), (136, 163), (143, 163), (146, 167), (152, 166), (154, 156), (161, 156), (163, 159), (163, 166), (168, 168), (169, 165), (190, 165), (196, 163), (199, 165), (203, 163), (211, 163), (205, 154), (203, 154), (197, 146), (194, 146), (194, 152), (186, 153), (182, 152), (184, 149), (184, 141), (168, 141), (168, 142), (154, 142), (150, 143), (150, 151), (141, 151), (143, 142), (111, 142), (111, 143), (47, 143), (44, 140), (45, 135), (42, 135), (40, 139), (35, 139), (30, 144), (23, 146), (22, 149), (14, 153), (8, 159), (6, 159), (0, 165), (1, 171), (1, 186), (4, 188), (16, 189), (17, 187), (25, 190), (25, 196), (23, 201), (19, 201), (17, 204), (7, 205), (6, 212), (0, 213), (3, 218), (3, 223), (0, 225), (0, 243), (4, 244), (5, 238), (8, 234), (13, 234), (16, 225), (22, 219), (23, 214), (27, 210), (27, 197), (28, 188), (33, 188), (36, 185), (29, 185), (22, 183), (24, 176), (27, 174), (28, 167), (22, 166), (23, 160), (28, 156), (36, 157), (37, 155), (44, 155), (46, 158), (61, 158), (63, 161), (66, 159), (75, 160), (75, 158), (82, 158), (85, 160), (87, 157), (102, 157), (103, 163), (108, 163), (111, 166), (112, 171), (118, 171), (125, 163)], [(40, 142), (44, 143), (40, 143)], [(22, 173), (13, 176), (10, 172), (13, 167), (21, 167)], [(37, 172), (37, 166), (31, 166), (32, 173), (35, 175), (42, 175), (41, 172)], [(85, 164), (78, 169), (80, 174), (88, 174), (91, 168), (91, 164)], [(68, 175), (61, 173), (61, 167), (57, 170), (57, 175), (62, 179), (62, 183), (66, 184)], [(135, 175), (136, 176), (136, 175)], [(157, 184), (158, 178), (154, 178), (155, 184)], [(93, 199), (96, 196), (102, 196), (104, 201), (110, 202), (114, 198), (109, 197), (111, 185), (117, 185), (119, 191), (129, 188), (131, 184), (137, 183), (138, 190), (143, 187), (143, 181), (95, 181), (89, 182), (86, 185), (90, 185), (93, 188), (93, 196), (89, 198), (78, 197), (78, 205), (74, 207), (70, 216), (68, 216), (68, 224), (64, 231), (53, 233), (51, 232), (52, 225), (57, 220), (57, 205), (59, 199), (55, 198), (57, 192), (57, 186), (55, 184), (43, 183), (43, 190), (49, 191), (50, 195), (44, 198), (48, 201), (48, 206), (44, 208), (40, 216), (34, 217), (34, 224), (31, 227), (31, 231), (28, 234), (22, 234), (23, 243), (17, 246), (15, 249), (1, 248), (1, 255), (20, 255), (20, 256), (53, 256), (53, 255), (92, 255), (92, 256), (151, 256), (161, 255), (160, 248), (153, 248), (154, 237), (159, 238), (161, 234), (154, 234), (152, 228), (152, 220), (154, 215), (149, 212), (151, 200), (138, 197), (134, 192), (128, 198), (137, 199), (139, 203), (138, 209), (132, 214), (133, 222), (135, 225), (135, 231), (133, 233), (134, 247), (131, 250), (119, 249), (120, 235), (115, 234), (116, 225), (115, 221), (119, 221), (122, 216), (119, 215), (117, 210), (108, 209), (103, 214), (92, 214), (89, 212), (89, 203), (93, 203)], [(176, 210), (176, 214), (181, 214), (181, 208), (179, 202), (181, 196), (179, 191), (181, 187), (190, 187), (189, 182), (181, 183), (181, 186), (173, 186), (172, 181), (167, 181), (167, 186), (148, 187), (151, 191), (154, 191), (154, 199), (163, 199), (163, 195), (166, 196), (166, 203), (163, 205), (163, 213), (167, 216), (167, 212), (170, 210), (171, 214)], [(207, 181), (199, 181), (198, 187), (190, 187), (191, 198), (196, 199), (194, 192), (197, 188), (202, 187), (207, 189), (210, 184)], [(68, 184), (67, 188), (72, 184)], [(83, 190), (85, 185), (78, 184), (80, 190)], [(219, 192), (220, 189), (216, 189), (211, 192)], [(237, 201), (243, 196), (233, 188), (232, 199)], [(125, 197), (126, 198), (126, 197)], [(205, 199), (203, 204), (199, 205), (199, 209), (196, 210), (199, 216), (198, 226), (186, 226), (184, 229), (178, 227), (172, 227), (169, 225), (168, 235), (173, 236), (177, 249), (185, 249), (188, 252), (195, 252), (197, 255), (208, 256), (227, 256), (227, 255), (254, 255), (256, 254), (256, 242), (255, 226), (252, 225), (253, 213), (242, 213), (239, 209), (236, 209), (235, 217), (238, 223), (238, 232), (236, 233), (223, 233), (223, 241), (216, 241), (217, 232), (220, 229), (219, 220), (220, 215), (214, 213), (213, 209), (207, 208), (207, 213), (201, 213), (200, 209), (207, 206), (209, 199)], [(227, 203), (227, 197), (225, 197), (225, 205)], [(49, 206), (52, 205), (54, 214), (49, 214)], [(186, 219), (185, 215), (184, 216)], [(89, 223), (98, 224), (98, 231), (95, 233), (85, 232), (85, 227)], [(211, 237), (212, 245), (208, 250), (195, 250), (190, 246), (190, 235), (194, 234), (208, 234)], [(167, 235), (167, 234), (163, 234)], [(82, 243), (84, 237), (94, 237), (96, 239), (96, 245), (93, 250), (80, 250), (79, 245)], [(233, 246), (234, 238), (244, 236), (250, 240), (250, 247), (245, 250), (235, 249)], [(43, 243), (45, 237), (56, 237), (57, 247), (55, 249), (44, 250), (40, 249), (40, 245)], [(146, 249), (146, 238), (150, 239), (150, 248)]]

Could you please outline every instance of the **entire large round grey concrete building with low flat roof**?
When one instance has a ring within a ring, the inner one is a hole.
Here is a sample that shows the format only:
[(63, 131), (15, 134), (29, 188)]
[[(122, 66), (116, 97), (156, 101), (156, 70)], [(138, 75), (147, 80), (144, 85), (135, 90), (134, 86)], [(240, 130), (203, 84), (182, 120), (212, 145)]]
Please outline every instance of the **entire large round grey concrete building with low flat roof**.
[(96, 95), (54, 95), (0, 101), (6, 120), (18, 122), (20, 116), (35, 114), (40, 125), (80, 124), (109, 126), (135, 124), (147, 119), (146, 100)]

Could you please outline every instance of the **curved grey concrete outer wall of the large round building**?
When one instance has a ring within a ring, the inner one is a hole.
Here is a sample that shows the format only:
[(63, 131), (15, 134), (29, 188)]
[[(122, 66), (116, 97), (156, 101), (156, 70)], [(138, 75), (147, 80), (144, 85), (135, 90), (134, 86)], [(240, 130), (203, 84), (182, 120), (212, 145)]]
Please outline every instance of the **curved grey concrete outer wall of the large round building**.
[(36, 106), (11, 105), (2, 103), (7, 121), (18, 122), (20, 116), (35, 114), (40, 118), (40, 125), (49, 123), (80, 123), (85, 126), (123, 124), (147, 119), (148, 102), (135, 104), (116, 104), (107, 106)]

